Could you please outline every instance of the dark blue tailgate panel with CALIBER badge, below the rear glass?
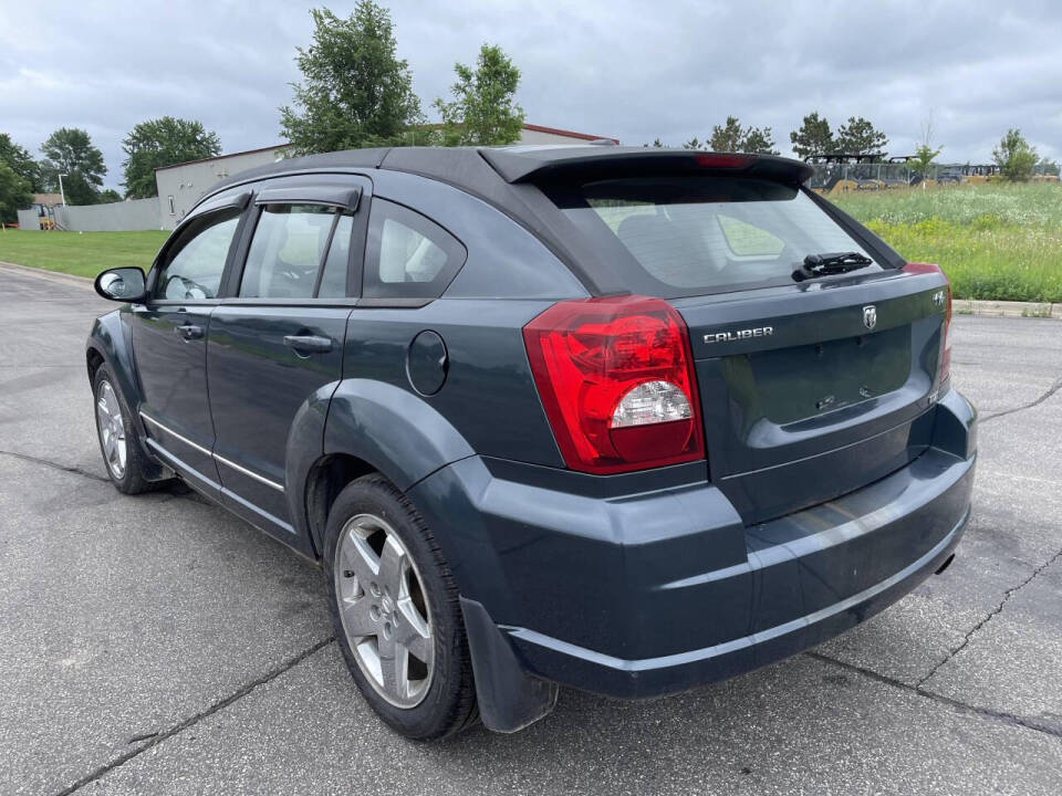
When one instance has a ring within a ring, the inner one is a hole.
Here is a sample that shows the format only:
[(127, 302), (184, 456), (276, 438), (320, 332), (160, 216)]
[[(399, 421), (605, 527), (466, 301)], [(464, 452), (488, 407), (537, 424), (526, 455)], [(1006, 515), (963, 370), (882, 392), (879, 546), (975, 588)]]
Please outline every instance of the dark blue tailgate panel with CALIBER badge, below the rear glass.
[(851, 492), (931, 436), (939, 276), (684, 298), (709, 470), (746, 522)]

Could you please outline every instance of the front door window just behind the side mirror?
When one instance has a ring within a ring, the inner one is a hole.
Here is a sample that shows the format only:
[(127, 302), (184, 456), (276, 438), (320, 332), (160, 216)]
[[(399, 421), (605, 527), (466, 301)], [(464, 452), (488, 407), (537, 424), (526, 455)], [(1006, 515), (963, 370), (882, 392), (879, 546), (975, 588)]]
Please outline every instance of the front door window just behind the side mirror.
[(166, 252), (154, 296), (169, 301), (216, 298), (239, 222), (239, 210), (223, 210), (190, 221)]

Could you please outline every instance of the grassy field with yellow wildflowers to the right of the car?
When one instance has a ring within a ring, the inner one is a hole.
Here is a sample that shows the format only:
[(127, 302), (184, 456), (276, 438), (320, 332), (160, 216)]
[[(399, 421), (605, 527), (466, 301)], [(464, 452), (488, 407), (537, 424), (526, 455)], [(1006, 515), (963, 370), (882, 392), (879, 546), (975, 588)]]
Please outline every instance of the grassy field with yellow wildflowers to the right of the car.
[(1062, 302), (1062, 187), (961, 186), (831, 197), (956, 298)]

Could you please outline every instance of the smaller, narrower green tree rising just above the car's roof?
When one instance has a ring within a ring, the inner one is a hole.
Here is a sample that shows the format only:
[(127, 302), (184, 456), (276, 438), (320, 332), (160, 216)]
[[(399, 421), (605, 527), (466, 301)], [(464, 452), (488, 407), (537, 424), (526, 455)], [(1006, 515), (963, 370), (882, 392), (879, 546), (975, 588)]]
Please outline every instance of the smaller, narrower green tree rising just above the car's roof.
[(442, 117), (442, 143), (488, 146), (520, 140), (523, 108), (513, 102), (520, 70), (501, 48), (483, 44), (475, 70), (457, 63), (454, 71), (454, 100), (442, 102), (440, 97), (433, 103)]

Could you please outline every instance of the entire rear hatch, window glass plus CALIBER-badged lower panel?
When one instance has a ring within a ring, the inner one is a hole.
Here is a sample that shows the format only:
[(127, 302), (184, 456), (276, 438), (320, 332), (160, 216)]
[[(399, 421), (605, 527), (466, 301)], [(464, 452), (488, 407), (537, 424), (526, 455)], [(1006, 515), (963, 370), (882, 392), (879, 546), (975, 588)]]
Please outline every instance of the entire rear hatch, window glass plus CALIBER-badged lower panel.
[[(584, 262), (607, 263), (613, 284), (667, 298), (685, 318), (710, 478), (757, 523), (925, 450), (947, 283), (898, 269), (888, 247), (800, 187), (801, 165), (733, 163), (582, 175), (543, 190), (592, 248)], [(835, 252), (868, 263), (793, 279), (806, 255)]]

